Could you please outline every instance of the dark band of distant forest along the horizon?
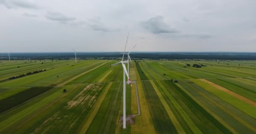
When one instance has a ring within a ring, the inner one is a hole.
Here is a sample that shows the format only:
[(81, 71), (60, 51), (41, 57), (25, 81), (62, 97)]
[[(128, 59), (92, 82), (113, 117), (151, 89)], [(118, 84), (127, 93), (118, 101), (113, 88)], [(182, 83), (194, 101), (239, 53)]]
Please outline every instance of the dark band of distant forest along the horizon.
[[(74, 59), (73, 52), (54, 53), (10, 53), (11, 60)], [(120, 59), (123, 54), (115, 52), (77, 52), (77, 59)], [(132, 59), (173, 60), (173, 59), (219, 59), (256, 60), (256, 53), (250, 52), (133, 52)], [(0, 60), (8, 60), (7, 53), (0, 53)]]

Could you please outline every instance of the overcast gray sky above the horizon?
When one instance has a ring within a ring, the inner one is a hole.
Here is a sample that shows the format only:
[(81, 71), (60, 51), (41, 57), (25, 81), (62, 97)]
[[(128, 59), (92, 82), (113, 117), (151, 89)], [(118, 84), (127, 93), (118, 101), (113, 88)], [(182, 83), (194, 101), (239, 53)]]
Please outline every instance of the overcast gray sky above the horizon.
[[(211, 1), (211, 2), (210, 2)], [(256, 0), (0, 0), (0, 52), (256, 52)]]

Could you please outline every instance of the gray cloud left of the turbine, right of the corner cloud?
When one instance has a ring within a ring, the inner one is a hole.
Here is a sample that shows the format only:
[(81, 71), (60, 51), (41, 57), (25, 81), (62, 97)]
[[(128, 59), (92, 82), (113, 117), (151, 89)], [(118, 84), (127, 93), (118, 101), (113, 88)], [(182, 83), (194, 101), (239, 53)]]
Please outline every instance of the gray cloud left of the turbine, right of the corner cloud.
[(51, 21), (59, 21), (62, 23), (67, 23), (69, 21), (74, 21), (76, 19), (74, 17), (68, 17), (62, 13), (50, 12), (50, 11), (48, 11), (46, 13), (45, 18), (47, 18), (48, 20), (51, 20)]

